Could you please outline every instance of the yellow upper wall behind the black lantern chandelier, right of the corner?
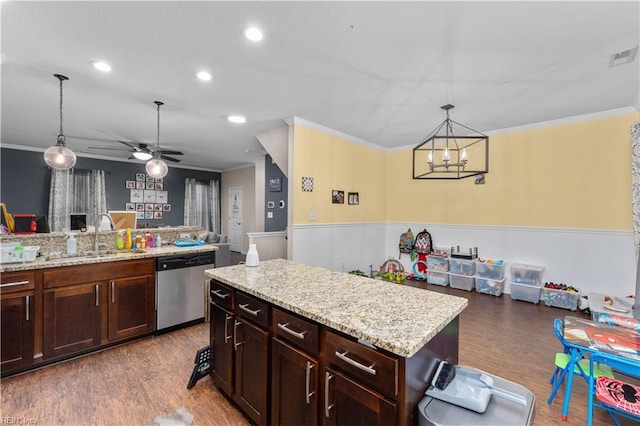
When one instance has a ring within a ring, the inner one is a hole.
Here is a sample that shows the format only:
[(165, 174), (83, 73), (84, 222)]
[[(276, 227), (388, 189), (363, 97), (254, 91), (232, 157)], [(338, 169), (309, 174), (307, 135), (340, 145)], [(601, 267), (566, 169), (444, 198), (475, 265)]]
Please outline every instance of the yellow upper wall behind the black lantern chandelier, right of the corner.
[(473, 178), (413, 180), (406, 170), (411, 150), (389, 153), (387, 220), (630, 230), (630, 127), (639, 118), (632, 113), (492, 136), (484, 185)]

